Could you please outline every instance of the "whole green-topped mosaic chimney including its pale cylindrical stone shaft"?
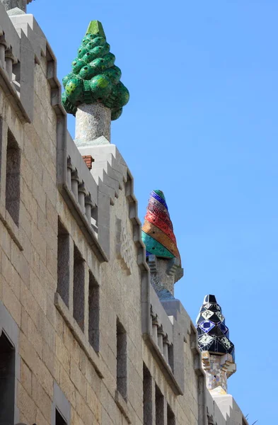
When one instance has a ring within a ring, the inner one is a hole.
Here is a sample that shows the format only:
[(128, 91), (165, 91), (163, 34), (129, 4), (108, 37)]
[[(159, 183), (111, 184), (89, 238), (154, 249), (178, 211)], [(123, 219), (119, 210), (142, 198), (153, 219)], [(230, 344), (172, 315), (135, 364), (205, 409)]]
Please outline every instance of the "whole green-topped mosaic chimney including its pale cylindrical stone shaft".
[(77, 147), (109, 144), (111, 120), (120, 117), (129, 101), (114, 62), (102, 24), (91, 21), (71, 72), (63, 79), (62, 102), (66, 112), (76, 116)]

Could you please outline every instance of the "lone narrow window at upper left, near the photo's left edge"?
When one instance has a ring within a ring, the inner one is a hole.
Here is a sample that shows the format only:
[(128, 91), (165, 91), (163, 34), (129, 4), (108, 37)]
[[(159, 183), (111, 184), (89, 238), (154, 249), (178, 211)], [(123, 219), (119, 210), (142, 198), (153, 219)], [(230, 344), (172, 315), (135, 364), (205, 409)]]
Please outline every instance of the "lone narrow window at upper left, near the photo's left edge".
[(6, 154), (6, 210), (18, 226), (21, 195), (21, 149), (11, 130), (8, 130)]

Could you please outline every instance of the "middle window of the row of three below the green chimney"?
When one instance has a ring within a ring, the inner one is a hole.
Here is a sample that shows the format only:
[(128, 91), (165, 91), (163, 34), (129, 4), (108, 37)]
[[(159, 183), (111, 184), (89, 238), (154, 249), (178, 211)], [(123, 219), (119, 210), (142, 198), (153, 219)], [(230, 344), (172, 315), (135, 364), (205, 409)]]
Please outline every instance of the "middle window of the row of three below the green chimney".
[(74, 319), (84, 331), (85, 268), (79, 249), (74, 244)]

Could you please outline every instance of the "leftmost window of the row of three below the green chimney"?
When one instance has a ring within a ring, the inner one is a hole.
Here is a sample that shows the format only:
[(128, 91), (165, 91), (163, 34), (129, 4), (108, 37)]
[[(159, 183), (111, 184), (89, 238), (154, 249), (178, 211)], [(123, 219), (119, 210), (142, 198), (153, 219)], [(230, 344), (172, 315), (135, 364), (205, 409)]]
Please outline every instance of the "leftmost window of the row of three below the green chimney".
[(69, 233), (58, 220), (58, 261), (57, 261), (57, 293), (61, 295), (65, 305), (69, 307)]

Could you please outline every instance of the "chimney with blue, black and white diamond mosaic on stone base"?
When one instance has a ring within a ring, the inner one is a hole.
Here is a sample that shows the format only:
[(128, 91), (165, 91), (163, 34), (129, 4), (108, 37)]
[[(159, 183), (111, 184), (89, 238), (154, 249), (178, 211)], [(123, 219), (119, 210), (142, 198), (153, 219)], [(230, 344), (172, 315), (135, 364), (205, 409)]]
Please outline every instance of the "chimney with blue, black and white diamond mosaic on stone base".
[(235, 347), (229, 339), (225, 317), (214, 295), (204, 297), (196, 327), (207, 388), (219, 394), (226, 394), (227, 379), (236, 372)]

